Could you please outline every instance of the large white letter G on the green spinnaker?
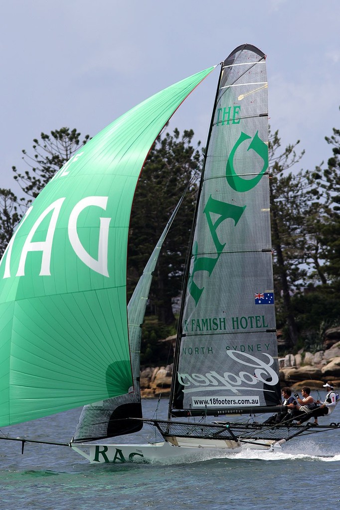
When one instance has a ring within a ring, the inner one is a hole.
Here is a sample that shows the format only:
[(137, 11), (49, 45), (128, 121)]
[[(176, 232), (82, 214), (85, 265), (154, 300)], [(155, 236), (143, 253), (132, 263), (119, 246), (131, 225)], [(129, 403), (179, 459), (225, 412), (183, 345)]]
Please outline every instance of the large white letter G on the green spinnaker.
[(77, 205), (72, 209), (68, 220), (68, 238), (72, 248), (75, 250), (76, 255), (80, 258), (84, 264), (90, 269), (102, 274), (103, 276), (109, 276), (107, 268), (107, 257), (108, 257), (108, 241), (109, 241), (109, 225), (111, 218), (100, 218), (99, 227), (99, 241), (98, 241), (98, 260), (90, 256), (81, 244), (78, 233), (77, 233), (77, 220), (80, 213), (89, 206), (97, 206), (101, 209), (106, 210), (108, 201), (107, 196), (87, 196), (80, 200)]

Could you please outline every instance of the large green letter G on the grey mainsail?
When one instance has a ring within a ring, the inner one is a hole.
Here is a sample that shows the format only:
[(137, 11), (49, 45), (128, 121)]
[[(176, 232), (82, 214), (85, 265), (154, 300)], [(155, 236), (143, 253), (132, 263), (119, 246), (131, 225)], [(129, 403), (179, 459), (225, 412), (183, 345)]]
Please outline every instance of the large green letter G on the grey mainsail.
[(246, 133), (241, 132), (237, 142), (233, 146), (233, 148), (230, 151), (230, 156), (227, 161), (227, 168), (226, 168), (226, 177), (229, 186), (235, 190), (235, 191), (249, 191), (252, 188), (254, 188), (257, 183), (260, 182), (262, 179), (262, 175), (268, 168), (269, 162), (268, 162), (268, 146), (261, 140), (261, 138), (258, 136), (258, 131), (256, 132), (254, 138), (249, 144), (249, 147), (247, 150), (253, 149), (255, 152), (263, 159), (263, 168), (260, 171), (256, 177), (253, 177), (253, 179), (243, 179), (234, 170), (234, 156), (237, 148), (241, 145), (241, 143), (245, 142), (246, 140), (249, 140), (251, 136), (246, 135)]

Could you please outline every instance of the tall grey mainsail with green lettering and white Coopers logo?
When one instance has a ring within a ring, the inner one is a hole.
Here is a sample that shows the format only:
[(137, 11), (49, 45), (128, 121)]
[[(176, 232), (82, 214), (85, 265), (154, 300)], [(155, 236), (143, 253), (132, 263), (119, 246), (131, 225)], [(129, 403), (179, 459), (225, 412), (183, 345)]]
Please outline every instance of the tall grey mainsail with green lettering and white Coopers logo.
[(222, 66), (183, 292), (169, 416), (279, 403), (265, 55)]

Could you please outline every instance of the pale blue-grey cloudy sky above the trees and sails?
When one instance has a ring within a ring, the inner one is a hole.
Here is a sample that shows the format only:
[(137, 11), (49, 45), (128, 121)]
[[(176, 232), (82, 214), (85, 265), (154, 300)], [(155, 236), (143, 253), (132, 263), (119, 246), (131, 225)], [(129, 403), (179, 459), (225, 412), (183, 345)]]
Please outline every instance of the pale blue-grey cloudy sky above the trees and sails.
[[(267, 54), (269, 114), (299, 167), (331, 155), (340, 127), (339, 0), (13, 0), (2, 6), (0, 187), (33, 138), (62, 126), (94, 136), (141, 100), (218, 64), (242, 43)], [(218, 69), (172, 122), (205, 144)]]

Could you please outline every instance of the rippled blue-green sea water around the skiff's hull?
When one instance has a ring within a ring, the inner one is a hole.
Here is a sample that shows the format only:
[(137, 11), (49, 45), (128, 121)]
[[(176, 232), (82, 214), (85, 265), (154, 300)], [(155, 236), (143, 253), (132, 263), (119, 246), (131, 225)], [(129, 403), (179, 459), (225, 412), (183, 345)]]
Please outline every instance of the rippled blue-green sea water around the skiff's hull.
[[(151, 418), (156, 401), (144, 401)], [(166, 416), (159, 403), (158, 418)], [(68, 442), (80, 410), (5, 427), (1, 435)], [(325, 418), (321, 418), (326, 423)], [(340, 406), (331, 416), (340, 422)], [(155, 439), (147, 427), (125, 442)], [(158, 438), (157, 438), (158, 439)], [(288, 442), (281, 452), (242, 451), (168, 464), (91, 465), (67, 446), (0, 441), (4, 510), (300, 510), (340, 507), (340, 430)]]

